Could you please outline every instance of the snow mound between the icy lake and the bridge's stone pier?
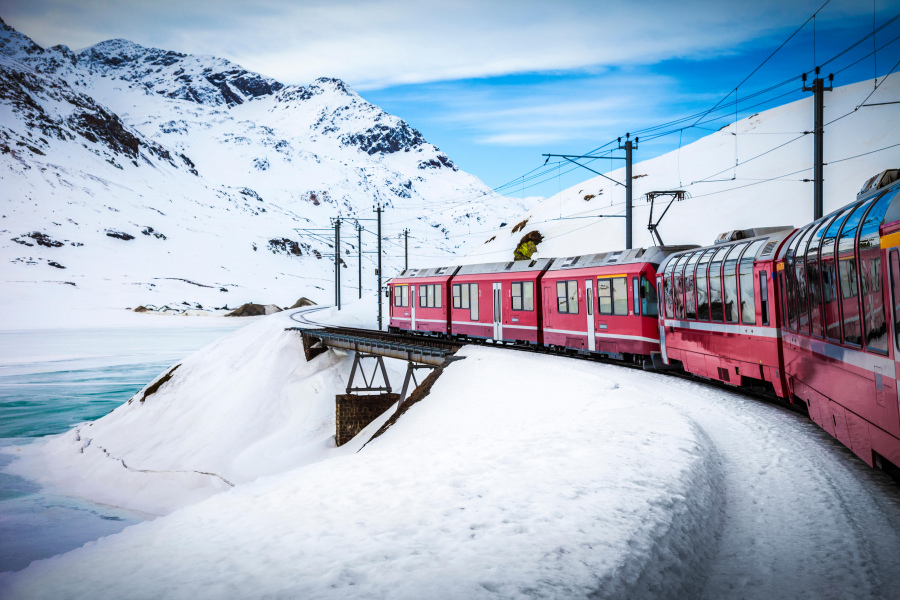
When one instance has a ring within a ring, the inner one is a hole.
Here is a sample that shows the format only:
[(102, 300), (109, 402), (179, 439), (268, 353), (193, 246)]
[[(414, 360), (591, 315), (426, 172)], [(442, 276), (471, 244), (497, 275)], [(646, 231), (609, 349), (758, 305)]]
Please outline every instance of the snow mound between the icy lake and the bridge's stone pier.
[[(285, 331), (301, 325), (291, 315), (303, 312), (255, 318), (160, 374), (107, 416), (4, 449), (20, 457), (7, 471), (158, 515), (354, 451), (353, 444), (336, 449), (333, 441), (334, 396), (346, 386), (351, 362), (335, 352), (306, 362), (299, 334)], [(388, 368), (396, 379), (405, 367), (390, 361)]]

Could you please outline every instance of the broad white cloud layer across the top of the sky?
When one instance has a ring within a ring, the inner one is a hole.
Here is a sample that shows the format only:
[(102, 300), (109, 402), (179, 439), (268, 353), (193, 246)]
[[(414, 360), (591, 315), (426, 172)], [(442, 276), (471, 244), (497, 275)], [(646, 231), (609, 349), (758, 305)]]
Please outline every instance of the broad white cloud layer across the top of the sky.
[[(721, 55), (802, 22), (821, 4), (3, 1), (3, 18), (43, 45), (77, 48), (125, 37), (148, 46), (222, 56), (286, 83), (330, 76), (361, 90)], [(851, 0), (835, 0), (822, 19), (866, 10)]]

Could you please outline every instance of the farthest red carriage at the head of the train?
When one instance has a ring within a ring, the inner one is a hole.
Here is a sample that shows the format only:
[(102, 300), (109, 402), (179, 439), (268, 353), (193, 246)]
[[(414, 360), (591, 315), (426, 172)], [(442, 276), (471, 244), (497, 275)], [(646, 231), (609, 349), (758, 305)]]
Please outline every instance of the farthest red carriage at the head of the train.
[(450, 331), (450, 278), (459, 267), (406, 269), (387, 283), (388, 331)]

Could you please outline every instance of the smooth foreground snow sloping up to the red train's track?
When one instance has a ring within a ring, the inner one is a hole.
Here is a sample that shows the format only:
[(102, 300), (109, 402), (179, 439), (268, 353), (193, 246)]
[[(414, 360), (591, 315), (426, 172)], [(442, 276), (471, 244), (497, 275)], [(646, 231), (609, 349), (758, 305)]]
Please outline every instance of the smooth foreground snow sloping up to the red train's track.
[(900, 493), (809, 421), (638, 370), (460, 354), (361, 450), (374, 429), (4, 574), (4, 597), (890, 596)]

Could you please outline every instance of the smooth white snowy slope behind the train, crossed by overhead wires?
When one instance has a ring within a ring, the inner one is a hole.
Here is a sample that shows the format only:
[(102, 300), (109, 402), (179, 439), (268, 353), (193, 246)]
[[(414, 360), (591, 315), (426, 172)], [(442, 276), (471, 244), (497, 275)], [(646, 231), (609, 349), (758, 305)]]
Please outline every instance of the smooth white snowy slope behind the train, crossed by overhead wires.
[[(900, 104), (863, 107), (853, 112), (872, 89), (872, 81), (863, 81), (835, 87), (825, 96), (826, 124), (851, 113), (825, 128), (826, 214), (853, 201), (871, 176), (900, 166), (900, 146), (842, 161), (900, 144)], [(900, 76), (894, 74), (868, 103), (888, 102), (898, 97)], [(724, 231), (801, 226), (812, 221), (812, 183), (801, 181), (813, 176), (813, 136), (802, 135), (813, 128), (812, 97), (742, 119), (736, 128), (737, 135), (732, 124), (680, 151), (634, 164), (634, 247), (655, 245), (647, 230), (649, 205), (640, 199), (652, 190), (684, 189), (692, 195), (691, 199), (676, 203), (663, 219), (659, 232), (667, 244), (708, 245)], [(763, 155), (797, 137), (800, 139)], [(639, 145), (635, 160), (640, 156)], [(735, 158), (743, 163), (736, 169)], [(597, 160), (591, 163), (591, 168), (605, 171), (609, 165), (608, 160)], [(616, 181), (624, 181), (624, 168), (606, 174)], [(763, 181), (772, 178), (778, 179)], [(709, 182), (692, 183), (698, 180)], [(511, 229), (524, 219), (528, 219), (524, 233), (536, 229), (545, 238), (538, 246), (536, 257), (624, 248), (624, 219), (559, 220), (560, 216), (624, 214), (624, 200), (623, 187), (600, 176), (587, 179), (512, 219), (506, 228), (485, 230), (480, 236), (482, 242), (492, 236), (496, 238), (475, 246), (464, 260), (469, 263), (509, 260), (507, 257), (512, 256), (523, 235), (523, 232), (514, 234)], [(664, 208), (657, 204), (655, 219)]]

